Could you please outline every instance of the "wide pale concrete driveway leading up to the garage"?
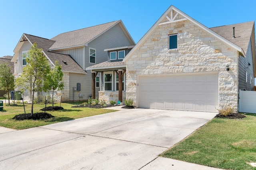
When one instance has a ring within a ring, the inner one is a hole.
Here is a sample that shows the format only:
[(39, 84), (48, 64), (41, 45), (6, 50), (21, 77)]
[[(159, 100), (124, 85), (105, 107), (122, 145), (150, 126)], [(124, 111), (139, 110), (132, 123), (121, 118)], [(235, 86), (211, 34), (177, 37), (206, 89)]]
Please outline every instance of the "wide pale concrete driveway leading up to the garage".
[(158, 154), (215, 115), (128, 109), (25, 130), (0, 128), (0, 169), (176, 169), (182, 163)]

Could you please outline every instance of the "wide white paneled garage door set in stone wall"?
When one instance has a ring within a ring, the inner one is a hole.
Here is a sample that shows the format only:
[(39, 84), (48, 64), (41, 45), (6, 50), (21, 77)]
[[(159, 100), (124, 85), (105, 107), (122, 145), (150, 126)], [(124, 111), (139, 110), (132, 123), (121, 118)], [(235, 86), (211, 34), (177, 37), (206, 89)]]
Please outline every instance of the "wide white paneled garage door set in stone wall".
[(141, 76), (138, 107), (217, 112), (218, 74)]

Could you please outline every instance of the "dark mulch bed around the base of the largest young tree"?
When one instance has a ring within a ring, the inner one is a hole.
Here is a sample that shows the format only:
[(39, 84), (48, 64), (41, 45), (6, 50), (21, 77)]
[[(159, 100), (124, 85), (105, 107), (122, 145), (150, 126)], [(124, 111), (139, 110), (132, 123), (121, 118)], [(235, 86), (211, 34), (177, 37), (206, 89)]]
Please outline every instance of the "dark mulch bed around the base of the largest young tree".
[(22, 120), (29, 120), (29, 119), (33, 119), (33, 120), (49, 119), (52, 117), (54, 116), (52, 116), (49, 113), (40, 112), (40, 113), (34, 113), (33, 117), (31, 116), (31, 113), (27, 113), (27, 114), (15, 115), (12, 119), (15, 119), (16, 121), (22, 121)]

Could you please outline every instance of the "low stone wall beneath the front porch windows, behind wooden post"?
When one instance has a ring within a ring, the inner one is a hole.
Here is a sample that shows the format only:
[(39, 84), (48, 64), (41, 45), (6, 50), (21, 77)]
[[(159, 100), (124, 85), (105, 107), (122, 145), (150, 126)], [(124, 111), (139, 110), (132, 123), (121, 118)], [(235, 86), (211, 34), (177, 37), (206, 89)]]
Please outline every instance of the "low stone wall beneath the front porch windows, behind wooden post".
[[(123, 91), (123, 104), (126, 100), (126, 92)], [(109, 104), (109, 101), (114, 100), (118, 101), (118, 91), (99, 91), (99, 100), (106, 101), (107, 104)]]

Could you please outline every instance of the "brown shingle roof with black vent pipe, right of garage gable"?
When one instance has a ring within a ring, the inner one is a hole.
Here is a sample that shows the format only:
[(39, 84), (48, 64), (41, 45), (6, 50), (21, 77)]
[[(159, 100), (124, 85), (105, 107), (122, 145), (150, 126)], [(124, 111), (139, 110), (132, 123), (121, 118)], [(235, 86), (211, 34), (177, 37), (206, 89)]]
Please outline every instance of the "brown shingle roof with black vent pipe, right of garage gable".
[[(236, 38), (233, 38), (233, 27), (235, 27)], [(220, 36), (226, 38), (230, 42), (241, 47), (244, 50), (244, 53), (246, 54), (253, 27), (254, 21), (251, 21), (239, 24), (232, 24), (228, 26), (219, 26), (210, 29), (219, 34)]]

